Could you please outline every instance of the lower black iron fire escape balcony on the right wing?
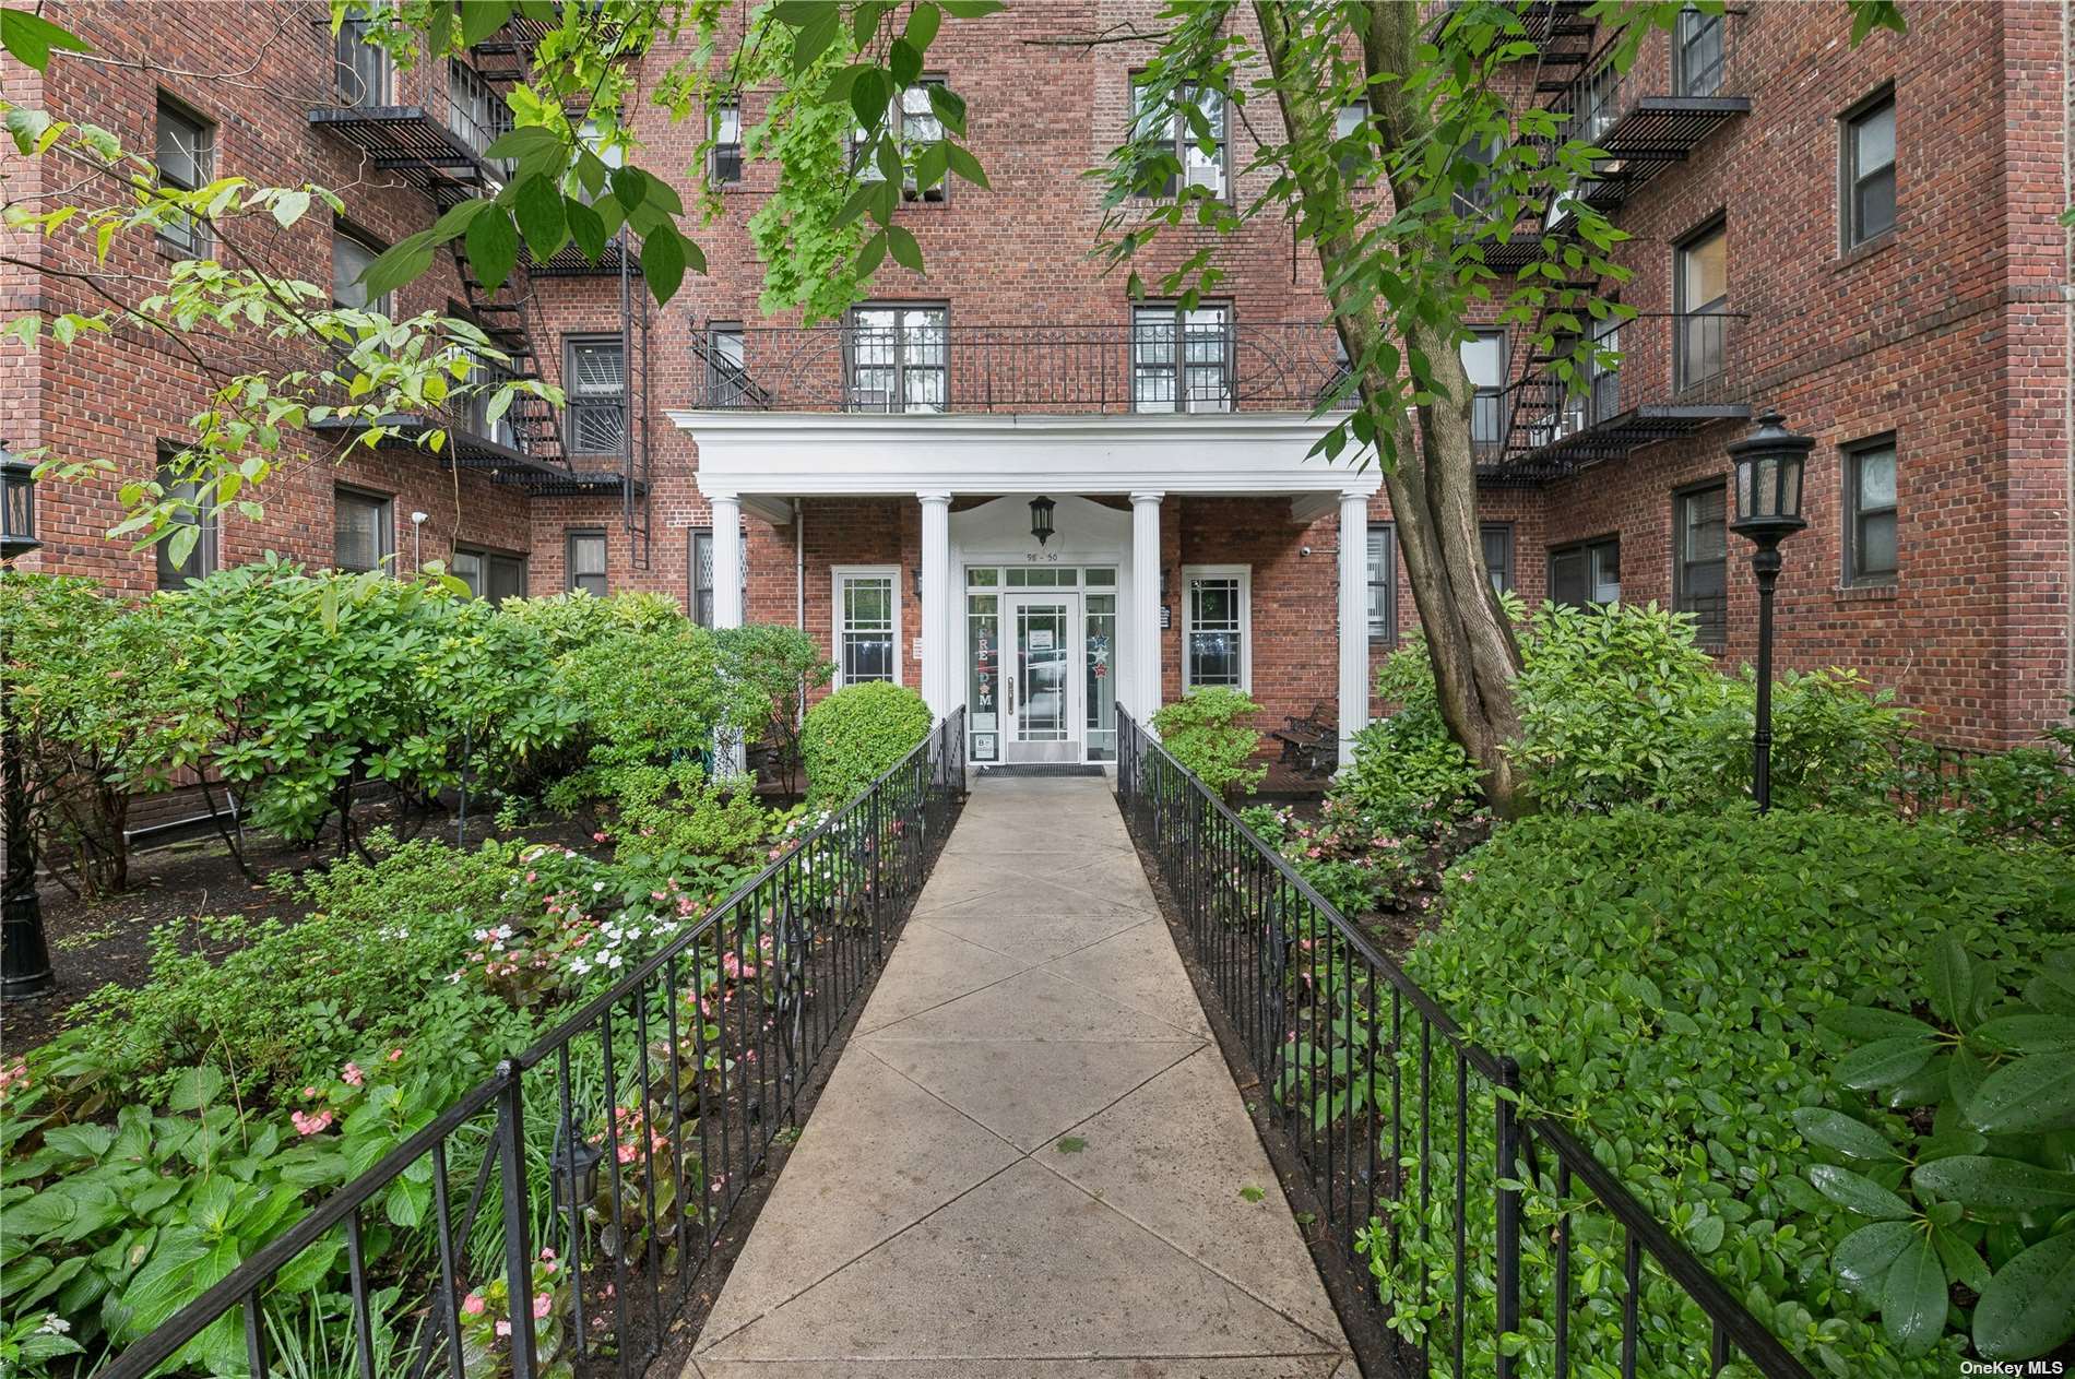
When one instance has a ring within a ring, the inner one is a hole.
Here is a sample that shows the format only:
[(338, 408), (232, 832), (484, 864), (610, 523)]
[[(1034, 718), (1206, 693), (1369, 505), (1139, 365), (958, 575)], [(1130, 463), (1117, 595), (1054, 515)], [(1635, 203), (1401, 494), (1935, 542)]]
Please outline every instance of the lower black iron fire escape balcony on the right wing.
[(1477, 396), (1471, 433), (1479, 458), (1498, 475), (1558, 477), (1749, 417), (1737, 353), (1745, 319), (1731, 311), (1643, 313), (1602, 328), (1600, 348), (1621, 361), (1594, 369), (1583, 388), (1556, 373), (1569, 346), (1536, 355), (1519, 382)]

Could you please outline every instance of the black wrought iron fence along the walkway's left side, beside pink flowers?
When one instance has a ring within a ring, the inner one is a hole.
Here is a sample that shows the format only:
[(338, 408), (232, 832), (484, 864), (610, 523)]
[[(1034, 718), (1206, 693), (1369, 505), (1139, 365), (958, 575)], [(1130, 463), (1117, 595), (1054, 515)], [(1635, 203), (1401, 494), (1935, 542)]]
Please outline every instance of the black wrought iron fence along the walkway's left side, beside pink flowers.
[[(961, 709), (98, 1379), (639, 1373), (921, 894), (963, 792)], [(338, 1308), (336, 1354), (313, 1358), (299, 1331), (309, 1298)]]

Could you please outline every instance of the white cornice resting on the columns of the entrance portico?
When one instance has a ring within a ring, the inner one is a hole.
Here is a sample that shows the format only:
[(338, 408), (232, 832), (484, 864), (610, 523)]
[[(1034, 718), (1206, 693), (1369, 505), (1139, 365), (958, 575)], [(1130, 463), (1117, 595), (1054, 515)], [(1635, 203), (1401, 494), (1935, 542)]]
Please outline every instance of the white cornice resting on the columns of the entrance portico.
[(1374, 456), (1326, 462), (1330, 419), (1299, 413), (884, 415), (670, 411), (706, 494), (1359, 494)]

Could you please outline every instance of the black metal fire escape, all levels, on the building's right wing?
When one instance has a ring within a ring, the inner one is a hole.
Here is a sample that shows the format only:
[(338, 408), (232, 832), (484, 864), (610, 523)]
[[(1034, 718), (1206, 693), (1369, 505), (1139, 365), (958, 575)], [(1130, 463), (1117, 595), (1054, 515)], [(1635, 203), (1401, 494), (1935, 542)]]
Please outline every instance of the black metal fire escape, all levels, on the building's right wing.
[[(1737, 10), (1714, 17), (1687, 10), (1670, 35), (1668, 62), (1637, 60), (1629, 73), (1614, 68), (1612, 44), (1600, 37), (1585, 10), (1583, 0), (1542, 0), (1523, 23), (1542, 50), (1533, 68), (1536, 95), (1569, 116), (1562, 139), (1583, 139), (1602, 158), (1567, 195), (1523, 218), (1506, 243), (1484, 245), (1484, 261), (1498, 274), (1517, 274), (1575, 241), (1577, 205), (1619, 218), (1664, 168), (1685, 162), (1716, 129), (1751, 110), (1747, 95), (1728, 93), (1735, 77), (1728, 35)], [(1600, 284), (1556, 286), (1594, 292)], [(1749, 417), (1737, 392), (1741, 379), (1728, 367), (1741, 317), (1724, 303), (1679, 303), (1675, 311), (1594, 323), (1594, 350), (1623, 359), (1616, 367), (1585, 361), (1575, 382), (1558, 369), (1562, 361), (1579, 361), (1581, 342), (1575, 336), (1542, 342), (1552, 309), (1544, 305), (1529, 328), (1513, 332), (1504, 386), (1477, 398), (1473, 433), (1486, 481), (1540, 483)]]

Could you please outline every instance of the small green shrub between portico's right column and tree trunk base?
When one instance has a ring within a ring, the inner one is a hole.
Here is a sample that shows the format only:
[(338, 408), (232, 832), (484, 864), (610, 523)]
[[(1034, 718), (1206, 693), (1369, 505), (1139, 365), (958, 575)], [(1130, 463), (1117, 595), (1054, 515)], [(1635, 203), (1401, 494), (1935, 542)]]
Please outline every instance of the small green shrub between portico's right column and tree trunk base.
[(1482, 773), (1442, 722), (1423, 643), (1376, 668), (1376, 695), (1396, 709), (1355, 734), (1355, 759), (1332, 796), (1394, 834), (1426, 834), (1473, 813)]

